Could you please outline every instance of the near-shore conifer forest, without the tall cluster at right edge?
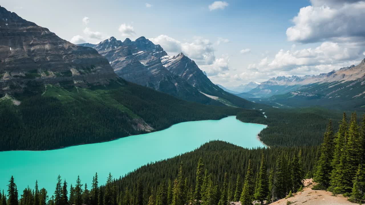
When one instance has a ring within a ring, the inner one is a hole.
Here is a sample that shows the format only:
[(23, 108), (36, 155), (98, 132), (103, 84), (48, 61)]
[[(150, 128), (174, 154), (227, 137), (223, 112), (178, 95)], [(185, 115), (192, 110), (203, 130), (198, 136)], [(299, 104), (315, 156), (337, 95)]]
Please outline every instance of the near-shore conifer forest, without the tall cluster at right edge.
[(314, 164), (308, 156), (315, 152), (315, 147), (245, 149), (214, 141), (124, 177), (110, 174), (104, 185), (99, 185), (95, 174), (90, 189), (80, 177), (68, 186), (69, 182), (58, 176), (51, 194), (39, 189), (37, 181), (34, 188), (27, 187), (18, 194), (12, 177), (0, 205), (262, 204), (300, 190)]

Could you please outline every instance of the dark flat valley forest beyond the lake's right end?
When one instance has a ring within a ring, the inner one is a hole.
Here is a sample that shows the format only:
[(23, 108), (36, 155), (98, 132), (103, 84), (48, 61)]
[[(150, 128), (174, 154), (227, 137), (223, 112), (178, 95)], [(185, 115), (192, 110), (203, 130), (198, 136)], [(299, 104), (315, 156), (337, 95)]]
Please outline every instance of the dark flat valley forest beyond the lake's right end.
[(237, 119), (247, 123), (268, 125), (259, 134), (261, 141), (268, 146), (317, 146), (323, 142), (323, 133), (326, 131), (328, 120), (332, 119), (335, 130), (338, 129), (338, 122), (342, 119), (341, 113), (321, 107), (295, 109), (271, 107), (260, 112), (253, 110), (238, 113)]

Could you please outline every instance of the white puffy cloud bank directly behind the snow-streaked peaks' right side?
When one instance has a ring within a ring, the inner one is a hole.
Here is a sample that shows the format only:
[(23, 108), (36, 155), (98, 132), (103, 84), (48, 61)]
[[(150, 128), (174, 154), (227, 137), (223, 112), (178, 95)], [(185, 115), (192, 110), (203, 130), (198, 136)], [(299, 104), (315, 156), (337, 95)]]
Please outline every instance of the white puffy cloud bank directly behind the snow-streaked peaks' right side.
[(150, 40), (161, 45), (168, 53), (184, 53), (199, 65), (211, 65), (215, 61), (214, 48), (208, 39), (194, 37), (190, 42), (180, 42), (167, 35), (160, 35)]

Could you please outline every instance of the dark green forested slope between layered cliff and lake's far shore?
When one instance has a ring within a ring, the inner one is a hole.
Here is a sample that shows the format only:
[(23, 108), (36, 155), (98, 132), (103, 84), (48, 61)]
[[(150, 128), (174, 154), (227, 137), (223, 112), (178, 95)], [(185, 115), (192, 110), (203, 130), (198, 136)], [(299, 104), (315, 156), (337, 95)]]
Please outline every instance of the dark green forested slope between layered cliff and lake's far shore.
[[(122, 79), (108, 86), (36, 84), (0, 99), (0, 150), (47, 150), (221, 119), (241, 108), (203, 105)], [(34, 90), (39, 90), (33, 94)], [(20, 100), (15, 105), (14, 100)]]

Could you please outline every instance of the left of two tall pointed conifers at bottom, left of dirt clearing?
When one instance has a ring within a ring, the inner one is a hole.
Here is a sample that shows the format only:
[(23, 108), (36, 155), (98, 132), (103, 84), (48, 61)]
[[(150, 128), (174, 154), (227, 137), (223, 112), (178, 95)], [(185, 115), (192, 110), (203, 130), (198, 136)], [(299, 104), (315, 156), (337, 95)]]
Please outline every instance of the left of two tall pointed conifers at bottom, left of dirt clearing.
[(241, 198), (242, 205), (251, 205), (254, 195), (254, 182), (253, 182), (253, 172), (251, 168), (251, 160), (249, 160), (249, 165), (247, 167), (247, 172), (245, 176), (245, 183), (243, 185)]

